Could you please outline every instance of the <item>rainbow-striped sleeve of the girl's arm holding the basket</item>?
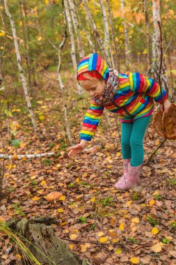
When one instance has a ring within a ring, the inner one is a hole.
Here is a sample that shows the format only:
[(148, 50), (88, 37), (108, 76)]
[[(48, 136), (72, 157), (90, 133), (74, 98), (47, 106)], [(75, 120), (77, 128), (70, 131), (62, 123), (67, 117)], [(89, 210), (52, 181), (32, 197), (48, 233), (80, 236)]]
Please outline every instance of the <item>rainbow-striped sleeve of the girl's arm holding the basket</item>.
[[(129, 73), (129, 83), (131, 91), (138, 93), (147, 93), (148, 96), (154, 98), (157, 103), (162, 103), (161, 90), (159, 84), (145, 75), (140, 73)], [(167, 99), (166, 91), (161, 88), (163, 92), (163, 100)]]

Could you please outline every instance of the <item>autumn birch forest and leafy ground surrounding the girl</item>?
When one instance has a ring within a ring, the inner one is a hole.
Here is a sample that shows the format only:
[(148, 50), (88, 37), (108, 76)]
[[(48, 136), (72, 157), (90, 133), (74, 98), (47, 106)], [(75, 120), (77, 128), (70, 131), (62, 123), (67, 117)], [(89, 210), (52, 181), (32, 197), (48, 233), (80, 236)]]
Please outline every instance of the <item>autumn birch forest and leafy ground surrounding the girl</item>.
[[(66, 151), (89, 105), (79, 59), (98, 52), (120, 73), (161, 82), (175, 102), (175, 28), (174, 0), (0, 0), (0, 231), (9, 218), (49, 216), (87, 264), (176, 264), (175, 141), (161, 144), (143, 188), (129, 192), (112, 188), (122, 173), (116, 116), (104, 113), (81, 156)], [(161, 142), (151, 122), (145, 161)], [(52, 191), (60, 196), (48, 199)], [(0, 263), (22, 264), (6, 235)]]

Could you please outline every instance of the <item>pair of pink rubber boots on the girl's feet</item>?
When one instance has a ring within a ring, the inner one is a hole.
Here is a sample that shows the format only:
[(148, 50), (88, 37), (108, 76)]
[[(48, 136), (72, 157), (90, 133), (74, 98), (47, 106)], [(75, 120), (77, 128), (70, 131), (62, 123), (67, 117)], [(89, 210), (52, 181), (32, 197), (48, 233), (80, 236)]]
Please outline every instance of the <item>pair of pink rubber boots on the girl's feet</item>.
[(124, 175), (122, 181), (119, 180), (118, 183), (115, 183), (114, 188), (117, 190), (128, 190), (134, 185), (139, 184), (141, 167), (142, 165), (139, 165), (138, 167), (131, 167), (129, 162), (127, 175)]

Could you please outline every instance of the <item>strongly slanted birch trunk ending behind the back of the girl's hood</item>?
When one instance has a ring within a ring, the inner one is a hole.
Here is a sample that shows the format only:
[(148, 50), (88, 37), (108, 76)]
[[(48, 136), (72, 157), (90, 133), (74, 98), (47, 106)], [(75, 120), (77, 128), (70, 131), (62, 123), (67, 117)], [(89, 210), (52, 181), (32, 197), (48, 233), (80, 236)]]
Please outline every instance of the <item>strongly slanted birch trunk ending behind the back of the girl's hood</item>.
[(110, 65), (111, 63), (109, 61), (109, 52), (104, 47), (104, 42), (103, 42), (102, 38), (99, 36), (99, 32), (97, 31), (97, 27), (96, 27), (95, 23), (93, 22), (93, 16), (90, 13), (90, 10), (88, 8), (87, 0), (82, 0), (82, 1), (83, 1), (83, 6), (86, 10), (86, 15), (88, 16), (88, 22), (90, 23), (90, 27), (92, 27), (92, 29), (93, 29), (95, 38), (97, 39), (97, 43), (99, 44), (99, 48), (102, 52), (104, 52), (104, 59)]

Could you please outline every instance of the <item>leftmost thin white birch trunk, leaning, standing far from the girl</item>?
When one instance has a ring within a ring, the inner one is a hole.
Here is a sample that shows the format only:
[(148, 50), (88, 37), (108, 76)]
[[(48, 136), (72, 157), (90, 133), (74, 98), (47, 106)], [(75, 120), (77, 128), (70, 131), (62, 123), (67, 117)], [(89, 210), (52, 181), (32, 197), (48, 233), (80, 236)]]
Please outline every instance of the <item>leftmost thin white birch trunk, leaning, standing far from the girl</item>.
[(5, 6), (5, 10), (6, 10), (6, 15), (8, 16), (8, 18), (10, 20), (10, 24), (11, 24), (12, 31), (13, 31), (13, 40), (14, 40), (14, 43), (15, 43), (15, 52), (16, 52), (16, 55), (17, 55), (17, 66), (18, 66), (18, 69), (19, 69), (19, 75), (20, 75), (20, 77), (22, 79), (22, 86), (23, 86), (23, 89), (24, 89), (24, 96), (26, 98), (26, 103), (27, 103), (27, 106), (28, 106), (28, 109), (29, 109), (29, 113), (31, 115), (31, 121), (33, 123), (33, 128), (34, 128), (35, 132), (37, 132), (38, 128), (37, 128), (37, 124), (35, 122), (35, 116), (34, 116), (34, 113), (33, 113), (32, 106), (31, 106), (31, 100), (29, 98), (29, 93), (28, 93), (27, 84), (26, 84), (26, 77), (24, 75), (24, 70), (22, 68), (22, 60), (21, 60), (21, 56), (20, 56), (20, 53), (19, 53), (19, 46), (18, 46), (18, 42), (17, 42), (17, 33), (16, 33), (16, 29), (15, 29), (15, 22), (14, 22), (13, 17), (10, 15), (10, 12), (8, 10), (8, 0), (4, 0), (4, 6)]

